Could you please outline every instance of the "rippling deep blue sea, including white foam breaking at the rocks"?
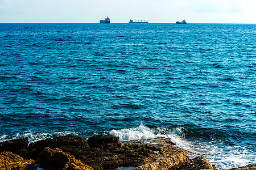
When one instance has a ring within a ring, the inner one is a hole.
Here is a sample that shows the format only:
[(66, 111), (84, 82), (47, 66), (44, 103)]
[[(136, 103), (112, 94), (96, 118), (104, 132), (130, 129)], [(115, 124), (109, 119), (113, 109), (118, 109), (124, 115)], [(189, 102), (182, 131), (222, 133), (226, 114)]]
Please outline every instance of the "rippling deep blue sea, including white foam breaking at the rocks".
[(164, 136), (256, 162), (255, 24), (0, 24), (0, 141)]

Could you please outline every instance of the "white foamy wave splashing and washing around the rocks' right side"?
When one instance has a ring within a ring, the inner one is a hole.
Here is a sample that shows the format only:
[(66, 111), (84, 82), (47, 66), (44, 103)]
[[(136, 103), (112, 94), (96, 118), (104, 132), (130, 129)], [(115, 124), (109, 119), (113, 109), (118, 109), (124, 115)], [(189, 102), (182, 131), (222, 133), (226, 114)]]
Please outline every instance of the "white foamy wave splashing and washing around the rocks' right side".
[(190, 157), (203, 155), (218, 169), (240, 167), (256, 162), (256, 152), (246, 147), (229, 146), (226, 141), (216, 139), (188, 139), (185, 138), (186, 130), (183, 127), (148, 128), (143, 124), (135, 128), (111, 130), (109, 134), (119, 137), (120, 141), (138, 139), (151, 139), (156, 137), (170, 138), (177, 147), (190, 151)]

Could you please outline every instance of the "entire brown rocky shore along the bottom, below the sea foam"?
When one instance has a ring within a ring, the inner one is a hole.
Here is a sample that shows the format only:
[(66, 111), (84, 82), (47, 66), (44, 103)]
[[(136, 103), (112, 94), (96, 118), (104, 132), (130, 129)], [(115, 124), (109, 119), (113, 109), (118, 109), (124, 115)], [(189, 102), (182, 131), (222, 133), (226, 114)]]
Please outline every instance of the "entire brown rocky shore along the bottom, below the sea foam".
[[(65, 135), (28, 143), (28, 138), (0, 142), (0, 169), (216, 169), (204, 156), (189, 159), (188, 151), (167, 138), (120, 142), (112, 135)], [(255, 168), (251, 164), (232, 170)]]

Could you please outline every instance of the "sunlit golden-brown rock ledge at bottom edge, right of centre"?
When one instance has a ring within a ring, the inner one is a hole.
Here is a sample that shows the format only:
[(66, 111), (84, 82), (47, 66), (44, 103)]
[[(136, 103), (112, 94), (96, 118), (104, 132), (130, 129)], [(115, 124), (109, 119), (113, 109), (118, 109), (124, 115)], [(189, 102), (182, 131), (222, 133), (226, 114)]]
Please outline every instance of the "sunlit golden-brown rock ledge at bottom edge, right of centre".
[(180, 152), (172, 155), (169, 158), (158, 160), (153, 163), (141, 165), (134, 170), (156, 170), (156, 169), (174, 169), (178, 165), (186, 162), (189, 159), (188, 151)]

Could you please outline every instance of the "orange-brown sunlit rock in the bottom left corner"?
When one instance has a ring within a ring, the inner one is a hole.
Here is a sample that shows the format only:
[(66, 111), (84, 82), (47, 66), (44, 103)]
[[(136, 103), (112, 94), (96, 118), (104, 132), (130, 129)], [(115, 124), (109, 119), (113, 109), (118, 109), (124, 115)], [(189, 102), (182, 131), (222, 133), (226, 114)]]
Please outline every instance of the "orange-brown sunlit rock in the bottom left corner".
[(34, 160), (24, 160), (19, 155), (15, 155), (12, 152), (0, 153), (0, 169), (5, 170), (24, 170), (30, 169), (28, 167), (34, 163)]

